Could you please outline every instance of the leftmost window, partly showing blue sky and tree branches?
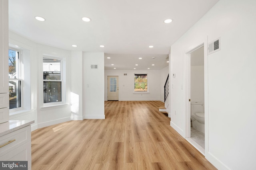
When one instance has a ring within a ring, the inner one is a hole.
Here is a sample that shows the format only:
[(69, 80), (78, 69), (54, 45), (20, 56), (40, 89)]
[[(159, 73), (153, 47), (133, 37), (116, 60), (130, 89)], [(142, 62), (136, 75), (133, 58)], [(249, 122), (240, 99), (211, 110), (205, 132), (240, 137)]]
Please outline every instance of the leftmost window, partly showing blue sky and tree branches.
[(21, 107), (22, 99), (22, 55), (10, 48), (9, 52), (9, 108)]

